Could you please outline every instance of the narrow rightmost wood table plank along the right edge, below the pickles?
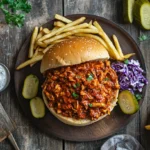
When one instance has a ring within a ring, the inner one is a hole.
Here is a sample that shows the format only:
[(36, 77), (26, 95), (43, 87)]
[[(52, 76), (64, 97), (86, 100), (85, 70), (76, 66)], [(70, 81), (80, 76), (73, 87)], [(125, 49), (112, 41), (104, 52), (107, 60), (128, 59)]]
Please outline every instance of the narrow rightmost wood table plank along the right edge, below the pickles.
[[(140, 31), (140, 35), (150, 35), (150, 31)], [(147, 68), (147, 79), (150, 79), (150, 41), (144, 41), (140, 43), (140, 48), (142, 54), (144, 56), (146, 68)], [(150, 82), (150, 80), (149, 80)], [(142, 105), (141, 112), (140, 112), (140, 133), (141, 133), (141, 143), (146, 150), (150, 149), (150, 132), (144, 129), (144, 126), (150, 124), (150, 84), (147, 88), (147, 93), (145, 96), (145, 101)]]

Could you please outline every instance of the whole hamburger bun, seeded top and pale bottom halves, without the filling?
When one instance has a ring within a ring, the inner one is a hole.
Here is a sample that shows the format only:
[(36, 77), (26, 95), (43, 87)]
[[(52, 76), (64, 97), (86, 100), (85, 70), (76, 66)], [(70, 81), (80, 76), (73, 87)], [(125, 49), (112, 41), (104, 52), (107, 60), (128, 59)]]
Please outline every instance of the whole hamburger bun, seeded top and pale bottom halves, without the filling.
[[(107, 59), (109, 59), (109, 54), (98, 41), (89, 37), (76, 37), (54, 45), (47, 53), (45, 53), (41, 63), (40, 71), (41, 73), (44, 73), (49, 69), (57, 67), (76, 65), (93, 60)], [(110, 111), (112, 111), (116, 105), (118, 92), (119, 90), (116, 90), (115, 98), (109, 105)], [(60, 121), (68, 125), (85, 126), (97, 122), (107, 116), (107, 114), (105, 114), (94, 121), (90, 119), (75, 119), (71, 117), (65, 117), (61, 114), (58, 114), (54, 108), (49, 107), (48, 99), (44, 92), (42, 92), (42, 95), (45, 105), (50, 112)]]

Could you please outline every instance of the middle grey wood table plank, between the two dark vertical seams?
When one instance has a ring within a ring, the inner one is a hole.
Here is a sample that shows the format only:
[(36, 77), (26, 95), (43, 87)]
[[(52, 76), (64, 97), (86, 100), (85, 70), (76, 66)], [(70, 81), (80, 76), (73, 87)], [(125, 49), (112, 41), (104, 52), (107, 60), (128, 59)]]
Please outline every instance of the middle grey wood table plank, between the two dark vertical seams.
[[(95, 14), (98, 16), (105, 17), (110, 19), (119, 25), (121, 25), (131, 36), (137, 41), (137, 37), (139, 36), (138, 28), (135, 25), (125, 25), (123, 24), (122, 19), (122, 1), (121, 0), (64, 0), (64, 14), (80, 14), (80, 13), (88, 13)], [(136, 117), (126, 126), (126, 128), (122, 129), (120, 132), (116, 134), (126, 133), (134, 136), (136, 139), (140, 140), (140, 126), (139, 126), (139, 113)], [(146, 116), (145, 116), (146, 118)], [(66, 142), (65, 150), (75, 150), (75, 149), (99, 149), (102, 143), (105, 141), (94, 141), (94, 142), (86, 142), (86, 143), (73, 143)]]

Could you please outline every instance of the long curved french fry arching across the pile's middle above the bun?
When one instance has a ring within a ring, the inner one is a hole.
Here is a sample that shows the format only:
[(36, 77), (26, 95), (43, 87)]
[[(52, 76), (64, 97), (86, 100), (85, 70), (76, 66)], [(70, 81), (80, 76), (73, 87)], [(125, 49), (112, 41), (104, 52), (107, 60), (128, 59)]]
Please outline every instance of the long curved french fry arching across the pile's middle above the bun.
[(65, 38), (67, 36), (70, 36), (70, 35), (73, 35), (73, 34), (76, 34), (76, 33), (93, 33), (93, 34), (98, 34), (98, 31), (97, 30), (92, 30), (92, 29), (77, 29), (77, 30), (73, 30), (73, 31), (70, 31), (70, 32), (66, 32), (66, 33), (63, 33), (63, 34), (60, 34), (60, 35), (56, 35), (50, 39), (47, 39), (45, 41), (43, 41), (45, 44), (50, 44), (52, 43), (53, 41), (55, 40), (59, 40), (59, 39), (62, 39), (62, 38)]

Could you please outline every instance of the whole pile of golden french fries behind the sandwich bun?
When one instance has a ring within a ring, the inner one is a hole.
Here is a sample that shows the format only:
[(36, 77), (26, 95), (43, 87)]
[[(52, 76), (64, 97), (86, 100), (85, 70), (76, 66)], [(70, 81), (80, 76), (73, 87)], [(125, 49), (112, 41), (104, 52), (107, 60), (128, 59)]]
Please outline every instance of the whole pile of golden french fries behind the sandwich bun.
[(44, 54), (56, 43), (74, 37), (91, 37), (99, 41), (108, 51), (110, 57), (114, 60), (123, 61), (133, 56), (134, 53), (124, 55), (120, 47), (118, 38), (113, 35), (113, 42), (104, 32), (97, 21), (84, 22), (85, 17), (75, 21), (69, 20), (61, 15), (55, 15), (53, 29), (35, 27), (32, 33), (28, 57), (29, 59), (20, 64), (16, 69), (22, 69), (28, 65), (31, 67), (42, 60)]

